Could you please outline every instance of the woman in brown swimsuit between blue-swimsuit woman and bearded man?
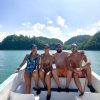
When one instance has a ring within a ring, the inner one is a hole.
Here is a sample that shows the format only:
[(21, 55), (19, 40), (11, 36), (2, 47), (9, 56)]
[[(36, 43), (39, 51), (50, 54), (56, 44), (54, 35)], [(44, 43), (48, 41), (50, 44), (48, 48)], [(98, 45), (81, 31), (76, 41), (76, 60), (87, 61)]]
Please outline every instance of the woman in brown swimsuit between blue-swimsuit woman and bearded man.
[(49, 54), (49, 46), (44, 46), (44, 53), (41, 55), (40, 79), (47, 87), (47, 100), (51, 97), (51, 71), (52, 71), (52, 56)]

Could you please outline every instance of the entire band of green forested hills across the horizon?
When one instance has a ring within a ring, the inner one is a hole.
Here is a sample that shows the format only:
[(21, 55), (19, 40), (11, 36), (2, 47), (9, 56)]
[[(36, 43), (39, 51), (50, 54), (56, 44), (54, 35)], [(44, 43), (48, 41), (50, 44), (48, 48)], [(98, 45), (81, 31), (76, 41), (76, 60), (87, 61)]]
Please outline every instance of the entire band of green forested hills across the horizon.
[(100, 50), (100, 32), (97, 32), (94, 36), (89, 35), (79, 35), (72, 37), (64, 44), (61, 40), (56, 38), (46, 38), (46, 37), (27, 37), (27, 36), (17, 36), (10, 35), (7, 36), (1, 43), (1, 50), (29, 50), (32, 44), (36, 44), (38, 49), (43, 49), (45, 44), (49, 44), (51, 49), (55, 49), (55, 44), (61, 43), (63, 49), (70, 49), (72, 43), (76, 43), (79, 49), (86, 50)]

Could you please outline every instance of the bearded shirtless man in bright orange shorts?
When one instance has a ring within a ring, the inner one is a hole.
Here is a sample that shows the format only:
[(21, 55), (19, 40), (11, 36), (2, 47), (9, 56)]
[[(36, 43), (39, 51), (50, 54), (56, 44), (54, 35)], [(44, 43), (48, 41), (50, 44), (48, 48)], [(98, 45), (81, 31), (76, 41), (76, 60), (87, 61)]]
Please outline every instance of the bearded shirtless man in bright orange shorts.
[(58, 92), (60, 92), (61, 85), (60, 85), (60, 80), (59, 77), (66, 77), (66, 92), (69, 91), (69, 83), (71, 81), (71, 75), (72, 72), (69, 70), (67, 67), (67, 59), (69, 56), (69, 53), (63, 52), (62, 51), (62, 45), (57, 44), (56, 45), (56, 53), (53, 55), (54, 62), (53, 62), (53, 70), (52, 74), (53, 77), (58, 85)]

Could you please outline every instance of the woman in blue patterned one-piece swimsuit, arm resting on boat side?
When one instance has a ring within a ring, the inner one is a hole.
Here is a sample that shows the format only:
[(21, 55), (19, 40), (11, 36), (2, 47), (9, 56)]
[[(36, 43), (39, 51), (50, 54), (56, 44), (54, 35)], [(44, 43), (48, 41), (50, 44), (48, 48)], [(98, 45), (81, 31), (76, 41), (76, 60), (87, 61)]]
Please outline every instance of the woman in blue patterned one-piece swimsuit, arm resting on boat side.
[(20, 68), (27, 63), (27, 66), (25, 68), (24, 72), (24, 78), (25, 78), (25, 88), (26, 94), (30, 93), (31, 90), (31, 79), (33, 78), (35, 81), (35, 86), (37, 89), (37, 94), (39, 94), (40, 90), (38, 88), (38, 69), (39, 69), (39, 60), (40, 56), (37, 54), (37, 47), (36, 45), (32, 45), (32, 51), (30, 54), (27, 54), (23, 60), (23, 62), (20, 64), (20, 66), (17, 68), (16, 72), (20, 70)]

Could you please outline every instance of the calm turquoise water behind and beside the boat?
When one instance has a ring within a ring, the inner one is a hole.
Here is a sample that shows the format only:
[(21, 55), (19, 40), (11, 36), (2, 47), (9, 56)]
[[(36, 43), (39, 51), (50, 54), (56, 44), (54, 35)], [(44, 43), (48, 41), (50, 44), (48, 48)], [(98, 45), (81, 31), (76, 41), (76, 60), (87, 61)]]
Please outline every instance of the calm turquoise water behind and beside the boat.
[[(51, 51), (51, 54), (55, 52)], [(30, 51), (0, 51), (0, 83), (14, 72), (28, 53)], [(100, 51), (86, 51), (86, 55), (92, 63), (92, 70), (100, 75)]]

